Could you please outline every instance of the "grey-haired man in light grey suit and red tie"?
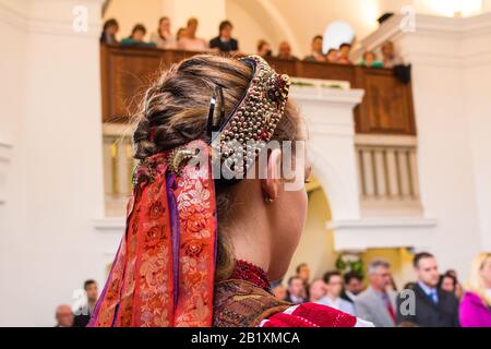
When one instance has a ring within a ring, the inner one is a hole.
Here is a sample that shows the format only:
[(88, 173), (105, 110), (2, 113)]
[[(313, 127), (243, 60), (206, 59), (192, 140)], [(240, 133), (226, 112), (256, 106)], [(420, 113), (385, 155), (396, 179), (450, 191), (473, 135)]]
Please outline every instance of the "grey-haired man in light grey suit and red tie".
[(391, 290), (391, 265), (373, 261), (368, 267), (369, 288), (355, 300), (355, 313), (375, 327), (394, 327), (396, 292)]

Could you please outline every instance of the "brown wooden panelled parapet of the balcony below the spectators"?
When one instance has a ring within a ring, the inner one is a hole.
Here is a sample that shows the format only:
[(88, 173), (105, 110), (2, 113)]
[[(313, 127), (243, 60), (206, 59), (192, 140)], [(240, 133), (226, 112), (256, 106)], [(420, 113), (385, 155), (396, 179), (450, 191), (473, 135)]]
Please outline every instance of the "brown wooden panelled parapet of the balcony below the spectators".
[[(154, 48), (103, 46), (103, 121), (128, 122), (151, 81), (175, 62), (195, 52)], [(282, 73), (296, 77), (349, 82), (363, 88), (363, 101), (355, 110), (357, 133), (416, 135), (411, 85), (388, 69), (268, 59)]]

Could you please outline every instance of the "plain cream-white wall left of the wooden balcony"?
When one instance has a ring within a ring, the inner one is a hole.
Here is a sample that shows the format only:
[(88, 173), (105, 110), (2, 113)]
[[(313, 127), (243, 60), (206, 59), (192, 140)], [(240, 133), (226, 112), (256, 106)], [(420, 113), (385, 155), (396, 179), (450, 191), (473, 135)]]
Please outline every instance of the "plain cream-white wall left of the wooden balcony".
[[(51, 326), (56, 305), (71, 303), (85, 278), (105, 277), (92, 225), (104, 214), (101, 1), (17, 3), (0, 3), (2, 33), (12, 35), (0, 58), (11, 70), (1, 92), (15, 88), (2, 103), (13, 156), (7, 204), (0, 206), (0, 326)], [(88, 10), (88, 33), (72, 29), (80, 4)], [(12, 20), (12, 13), (19, 15)]]

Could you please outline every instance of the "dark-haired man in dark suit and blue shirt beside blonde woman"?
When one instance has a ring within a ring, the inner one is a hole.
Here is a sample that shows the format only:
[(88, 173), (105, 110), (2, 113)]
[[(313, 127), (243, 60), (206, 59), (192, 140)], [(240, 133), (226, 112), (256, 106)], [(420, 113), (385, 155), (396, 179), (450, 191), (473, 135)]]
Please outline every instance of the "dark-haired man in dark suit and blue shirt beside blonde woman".
[(458, 301), (453, 293), (438, 289), (439, 267), (435, 257), (427, 252), (418, 253), (412, 265), (417, 275), (414, 287), (414, 312), (404, 303), (407, 296), (397, 298), (397, 323), (414, 323), (421, 327), (457, 327)]

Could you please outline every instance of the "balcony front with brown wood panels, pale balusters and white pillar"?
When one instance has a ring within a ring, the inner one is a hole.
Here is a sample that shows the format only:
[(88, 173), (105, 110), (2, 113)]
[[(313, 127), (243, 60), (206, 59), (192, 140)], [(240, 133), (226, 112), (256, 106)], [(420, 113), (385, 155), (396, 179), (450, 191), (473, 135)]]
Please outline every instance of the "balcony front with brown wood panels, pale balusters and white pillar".
[[(139, 96), (159, 70), (193, 55), (101, 47), (106, 216), (124, 215), (135, 166), (129, 121)], [(388, 69), (270, 63), (292, 76), (291, 97), (306, 115), (315, 174), (333, 218), (421, 216), (411, 84)]]

